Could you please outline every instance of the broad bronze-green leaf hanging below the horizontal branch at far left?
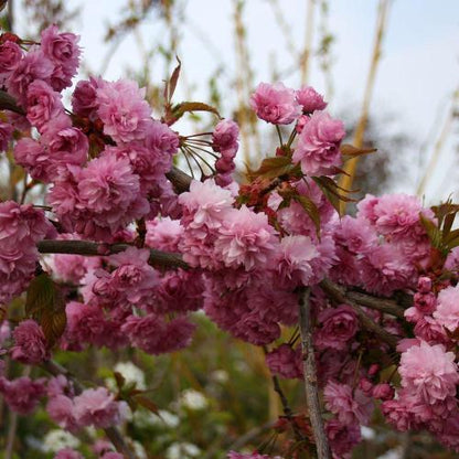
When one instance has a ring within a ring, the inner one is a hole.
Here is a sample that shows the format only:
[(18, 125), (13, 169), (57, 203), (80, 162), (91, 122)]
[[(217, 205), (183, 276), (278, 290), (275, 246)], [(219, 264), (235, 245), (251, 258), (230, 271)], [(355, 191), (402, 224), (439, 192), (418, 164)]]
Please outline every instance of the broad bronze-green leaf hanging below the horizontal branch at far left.
[(32, 279), (25, 299), (25, 313), (40, 323), (50, 348), (64, 333), (67, 323), (65, 299), (46, 273)]

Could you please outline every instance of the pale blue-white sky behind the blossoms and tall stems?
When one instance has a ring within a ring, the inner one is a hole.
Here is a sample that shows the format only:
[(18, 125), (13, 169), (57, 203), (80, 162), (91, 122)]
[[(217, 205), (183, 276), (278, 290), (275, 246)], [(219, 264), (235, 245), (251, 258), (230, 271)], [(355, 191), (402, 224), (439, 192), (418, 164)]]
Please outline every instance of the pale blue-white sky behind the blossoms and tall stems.
[[(70, 7), (83, 4), (81, 20), (74, 32), (82, 34), (85, 58), (96, 73), (100, 68), (107, 45), (103, 43), (106, 23), (118, 18), (127, 0), (71, 0)], [(236, 90), (231, 87), (230, 76), (234, 74), (234, 21), (232, 0), (188, 0), (183, 20), (180, 20), (179, 55), (182, 60), (186, 83), (193, 88), (195, 99), (205, 100), (207, 79), (221, 62), (227, 74), (222, 77), (225, 87), (227, 113), (235, 105)], [(271, 63), (278, 68), (295, 68), (295, 63), (286, 47), (286, 41), (275, 20), (268, 0), (247, 0), (244, 20), (248, 30), (247, 42), (255, 71), (255, 83), (270, 82)], [(301, 49), (305, 38), (306, 1), (277, 0), (289, 25), (291, 39)], [(328, 29), (335, 36), (332, 47), (333, 98), (330, 111), (345, 107), (360, 110), (365, 86), (377, 12), (377, 0), (329, 0)], [(316, 24), (320, 18), (317, 11)], [(318, 38), (318, 31), (314, 32)], [(146, 46), (166, 42), (162, 22), (156, 15), (146, 22), (140, 34)], [(207, 41), (207, 44), (204, 44)], [(127, 66), (139, 67), (141, 57), (136, 39), (131, 34), (117, 50), (104, 77), (116, 79), (125, 75)], [(159, 64), (158, 64), (159, 65)], [(293, 67), (292, 67), (293, 65)], [(393, 0), (383, 55), (380, 63), (371, 113), (392, 115), (399, 131), (412, 135), (417, 142), (413, 151), (413, 163), (418, 162), (419, 148), (430, 139), (424, 161), (433, 151), (448, 103), (459, 84), (459, 0)], [(163, 70), (152, 70), (157, 83), (163, 79)], [(285, 75), (284, 82), (298, 87), (299, 72), (293, 70)], [(313, 60), (309, 84), (319, 92), (325, 88), (323, 75)], [(183, 88), (182, 88), (183, 89)], [(181, 93), (183, 94), (183, 92)], [(180, 93), (179, 93), (180, 96)], [(437, 120), (437, 121), (436, 121)], [(458, 122), (446, 142), (439, 167), (426, 189), (427, 201), (445, 199), (451, 192), (459, 192)], [(434, 136), (428, 132), (433, 131)], [(399, 184), (399, 190), (415, 192), (415, 179)], [(459, 194), (456, 194), (459, 199)]]

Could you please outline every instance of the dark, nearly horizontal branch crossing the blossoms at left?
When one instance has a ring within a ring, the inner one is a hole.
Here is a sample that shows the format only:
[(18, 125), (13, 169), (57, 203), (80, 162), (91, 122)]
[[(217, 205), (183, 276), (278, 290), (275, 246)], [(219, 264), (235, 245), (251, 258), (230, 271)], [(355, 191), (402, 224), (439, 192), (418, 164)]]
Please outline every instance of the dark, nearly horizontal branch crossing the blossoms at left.
[[(57, 241), (44, 239), (36, 244), (41, 254), (76, 254), (88, 256), (104, 256), (126, 250), (128, 244), (99, 244), (90, 241)], [(189, 268), (180, 254), (150, 249), (150, 265), (163, 268)]]

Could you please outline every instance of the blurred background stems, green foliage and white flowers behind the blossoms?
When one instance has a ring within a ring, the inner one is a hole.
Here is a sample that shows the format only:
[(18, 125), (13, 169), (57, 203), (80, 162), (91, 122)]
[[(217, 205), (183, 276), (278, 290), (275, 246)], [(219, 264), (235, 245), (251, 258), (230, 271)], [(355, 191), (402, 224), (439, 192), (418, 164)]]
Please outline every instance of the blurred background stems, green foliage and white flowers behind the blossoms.
[[(286, 2), (265, 1), (273, 9), (278, 24), (276, 40), (285, 42), (286, 53), (291, 55), (295, 63), (291, 68), (278, 68), (273, 60), (273, 81), (282, 79), (289, 73), (298, 76), (299, 84), (307, 84), (311, 62), (316, 61), (325, 82), (325, 96), (332, 99), (334, 88), (331, 68), (337, 38), (329, 30), (329, 3), (337, 0), (305, 0), (307, 17), (303, 43), (292, 40), (284, 11)], [(10, 0), (2, 12), (1, 24), (3, 30), (32, 39), (39, 38), (40, 31), (50, 23), (77, 32), (78, 21), (82, 20), (81, 3), (76, 0)], [(98, 22), (104, 28), (107, 46), (100, 50), (98, 68), (92, 68), (83, 60), (81, 76), (90, 73), (104, 75), (122, 41), (134, 36), (142, 60), (127, 66), (124, 75), (146, 87), (148, 99), (159, 115), (163, 104), (163, 81), (177, 65), (175, 56), (180, 57), (183, 35), (181, 28), (186, 24), (193, 29), (202, 45), (209, 47), (210, 54), (214, 55), (214, 71), (206, 82), (207, 98), (201, 102), (215, 106), (225, 117), (231, 117), (241, 125), (243, 160), (238, 177), (245, 180), (245, 166), (256, 166), (265, 156), (273, 154), (277, 141), (274, 130), (259, 126), (248, 107), (249, 95), (258, 83), (254, 81), (247, 34), (249, 25), (245, 21), (248, 1), (232, 0), (236, 56), (234, 68), (225, 62), (222, 50), (214, 47), (212, 36), (185, 18), (185, 3), (184, 0), (126, 0), (113, 22), (107, 22), (100, 12)], [(394, 116), (384, 113), (374, 115), (370, 109), (384, 33), (389, 26), (387, 9), (391, 1), (380, 0), (374, 4), (377, 22), (364, 99), (360, 107), (349, 106), (343, 113), (334, 114), (345, 121), (350, 142), (378, 149), (377, 154), (364, 157), (355, 173), (351, 173), (353, 183), (350, 188), (359, 190), (353, 194), (355, 199), (366, 192), (387, 192), (396, 181), (410, 180), (407, 171), (414, 167), (413, 159), (409, 159), (413, 157), (406, 154), (413, 146), (413, 139), (403, 134), (403, 127), (397, 125)], [(141, 33), (141, 26), (148, 28), (153, 23), (160, 23), (166, 31), (157, 42), (146, 40)], [(192, 62), (192, 57), (189, 58)], [(182, 72), (180, 87), (183, 99), (192, 99), (195, 84), (189, 78), (186, 68)], [(456, 102), (455, 99), (446, 125), (435, 142), (435, 150), (430, 154), (434, 160), (445, 139), (455, 129)], [(181, 120), (178, 129), (209, 131), (214, 121), (211, 116), (194, 114)], [(431, 167), (430, 162), (425, 170), (419, 169), (419, 194), (423, 194), (421, 183), (423, 180), (428, 180)], [(18, 199), (19, 184), (23, 179), (22, 171), (14, 166), (10, 152), (0, 164), (0, 198)], [(43, 191), (44, 189), (38, 190), (32, 196), (40, 201)], [(350, 212), (352, 211), (351, 206)], [(19, 301), (13, 308), (18, 317), (22, 307)], [(143, 395), (150, 402), (145, 402), (146, 407), (139, 407), (124, 426), (125, 431), (136, 441), (139, 458), (217, 459), (224, 458), (231, 449), (250, 451), (267, 444), (270, 446), (266, 452), (285, 450), (291, 436), (288, 431), (276, 434), (273, 430), (274, 424), (282, 416), (282, 406), (266, 369), (263, 350), (232, 339), (217, 330), (202, 313), (195, 313), (194, 320), (199, 323), (198, 331), (192, 345), (184, 352), (153, 357), (132, 350), (113, 353), (90, 349), (82, 353), (60, 353), (56, 360), (88, 385), (106, 383), (117, 391), (115, 372), (118, 372), (125, 378), (125, 388), (130, 384), (130, 388), (137, 385), (137, 388), (146, 391)], [(291, 331), (285, 331), (287, 340), (290, 333)], [(9, 362), (10, 377), (19, 376), (21, 371)], [(32, 375), (44, 374), (32, 369)], [(280, 385), (293, 413), (305, 413), (301, 384), (280, 381)], [(49, 421), (43, 409), (39, 410), (38, 416), (17, 417), (8, 412), (3, 401), (0, 401), (0, 434), (1, 459), (50, 459), (54, 451), (67, 445), (77, 447), (87, 457), (94, 457), (90, 445), (100, 435), (95, 430), (86, 430), (77, 437), (64, 434)], [(372, 428), (362, 434), (364, 441), (356, 448), (354, 458), (457, 457), (445, 451), (424, 433), (392, 431), (377, 414)], [(8, 444), (13, 447), (9, 449)]]

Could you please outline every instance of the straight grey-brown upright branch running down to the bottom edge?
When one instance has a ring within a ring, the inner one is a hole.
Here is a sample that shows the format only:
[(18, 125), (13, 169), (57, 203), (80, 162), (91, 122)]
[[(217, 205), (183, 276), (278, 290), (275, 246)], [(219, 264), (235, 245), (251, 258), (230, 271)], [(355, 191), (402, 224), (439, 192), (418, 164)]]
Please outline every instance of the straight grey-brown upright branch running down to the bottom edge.
[(312, 328), (309, 296), (310, 289), (307, 288), (300, 291), (299, 297), (299, 325), (301, 333), (306, 399), (308, 404), (309, 419), (311, 421), (312, 434), (316, 440), (318, 459), (331, 459), (330, 446), (323, 426), (323, 419), (319, 402), (319, 386), (317, 381), (316, 356), (312, 346)]

